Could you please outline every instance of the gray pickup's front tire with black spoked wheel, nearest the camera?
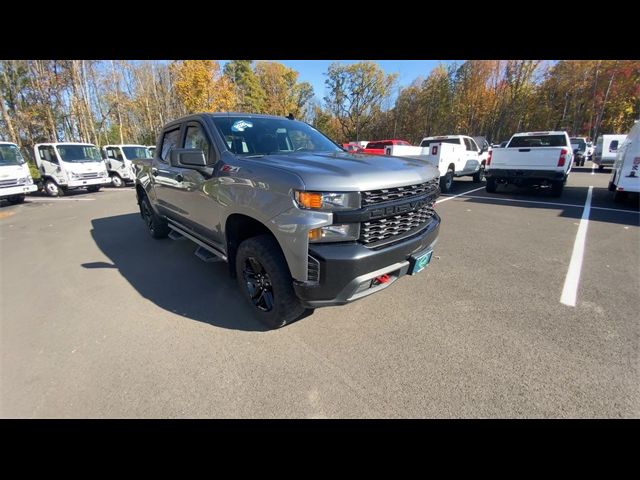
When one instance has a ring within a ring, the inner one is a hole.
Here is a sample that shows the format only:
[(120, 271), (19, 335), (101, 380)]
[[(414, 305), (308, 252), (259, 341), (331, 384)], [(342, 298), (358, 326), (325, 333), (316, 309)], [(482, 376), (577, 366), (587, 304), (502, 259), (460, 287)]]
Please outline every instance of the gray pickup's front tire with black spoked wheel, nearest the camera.
[(235, 267), (243, 297), (267, 327), (283, 327), (305, 312), (293, 291), (293, 279), (284, 255), (271, 235), (242, 242)]

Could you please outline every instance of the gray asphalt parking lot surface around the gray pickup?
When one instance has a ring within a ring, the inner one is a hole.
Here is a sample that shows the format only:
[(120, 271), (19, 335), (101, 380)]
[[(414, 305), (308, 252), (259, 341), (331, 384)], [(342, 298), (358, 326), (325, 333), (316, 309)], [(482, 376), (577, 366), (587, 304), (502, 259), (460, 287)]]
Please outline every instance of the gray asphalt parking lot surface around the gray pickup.
[(275, 331), (224, 264), (151, 239), (131, 188), (5, 206), (1, 415), (638, 417), (640, 215), (608, 179), (574, 168), (561, 198), (459, 179), (424, 272)]

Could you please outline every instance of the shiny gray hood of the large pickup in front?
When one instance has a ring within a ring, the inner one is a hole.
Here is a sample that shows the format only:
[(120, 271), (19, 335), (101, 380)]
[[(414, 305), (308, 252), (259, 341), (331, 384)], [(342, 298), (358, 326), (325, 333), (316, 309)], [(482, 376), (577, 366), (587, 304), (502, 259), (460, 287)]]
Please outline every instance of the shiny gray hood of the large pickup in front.
[(307, 190), (363, 191), (424, 183), (439, 172), (424, 160), (388, 155), (291, 153), (247, 159), (296, 173)]

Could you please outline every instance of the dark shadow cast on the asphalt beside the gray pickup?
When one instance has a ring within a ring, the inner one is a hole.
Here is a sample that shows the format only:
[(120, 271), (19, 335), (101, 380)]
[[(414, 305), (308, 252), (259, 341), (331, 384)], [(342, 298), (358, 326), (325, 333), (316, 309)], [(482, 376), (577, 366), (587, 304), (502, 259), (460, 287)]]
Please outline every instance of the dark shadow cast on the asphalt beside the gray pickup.
[(221, 328), (266, 331), (241, 297), (224, 262), (205, 263), (188, 240), (154, 240), (140, 214), (91, 221), (91, 235), (107, 262), (84, 268), (117, 268), (138, 293), (158, 307)]

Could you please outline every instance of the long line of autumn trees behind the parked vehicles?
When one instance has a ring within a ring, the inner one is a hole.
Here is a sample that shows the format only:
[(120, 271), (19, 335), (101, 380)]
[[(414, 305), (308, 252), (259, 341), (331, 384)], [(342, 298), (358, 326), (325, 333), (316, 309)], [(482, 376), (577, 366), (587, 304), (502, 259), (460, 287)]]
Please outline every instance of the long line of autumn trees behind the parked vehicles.
[(334, 62), (325, 76), (318, 99), (279, 62), (2, 60), (0, 137), (147, 145), (180, 116), (240, 111), (293, 114), (339, 143), (456, 133), (499, 142), (549, 129), (596, 138), (640, 116), (640, 61), (469, 60), (405, 88), (375, 62)]

